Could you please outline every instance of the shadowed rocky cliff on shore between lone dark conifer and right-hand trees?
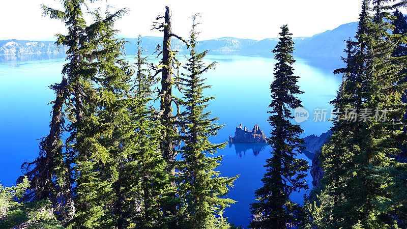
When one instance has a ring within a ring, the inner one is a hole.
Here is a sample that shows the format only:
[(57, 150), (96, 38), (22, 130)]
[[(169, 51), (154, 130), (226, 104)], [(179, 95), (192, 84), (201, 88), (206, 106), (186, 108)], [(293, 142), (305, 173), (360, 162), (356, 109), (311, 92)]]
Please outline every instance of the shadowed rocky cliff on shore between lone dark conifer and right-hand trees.
[(321, 136), (315, 136), (314, 134), (311, 134), (304, 138), (305, 150), (303, 151), (303, 153), (314, 155), (314, 157), (312, 158), (310, 174), (312, 177), (312, 185), (315, 187), (319, 185), (319, 181), (321, 181), (322, 177), (324, 176), (324, 171), (319, 164), (319, 157), (321, 156), (320, 150), (330, 136), (332, 136), (332, 131), (322, 133)]

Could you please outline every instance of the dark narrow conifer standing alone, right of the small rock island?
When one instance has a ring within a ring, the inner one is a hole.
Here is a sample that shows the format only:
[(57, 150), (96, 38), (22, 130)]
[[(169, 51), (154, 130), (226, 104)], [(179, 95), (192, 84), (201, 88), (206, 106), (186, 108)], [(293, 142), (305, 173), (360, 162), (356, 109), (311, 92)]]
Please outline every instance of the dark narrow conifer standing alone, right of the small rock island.
[(264, 186), (257, 189), (255, 196), (257, 203), (251, 204), (254, 219), (250, 228), (286, 228), (298, 225), (302, 208), (293, 203), (289, 195), (293, 191), (307, 189), (306, 173), (308, 162), (297, 159), (297, 152), (303, 149), (303, 140), (299, 137), (303, 130), (299, 125), (290, 123), (293, 119), (290, 109), (301, 106), (301, 100), (295, 95), (303, 93), (294, 76), (292, 56), (294, 42), (287, 25), (281, 27), (280, 41), (273, 50), (277, 64), (274, 67), (275, 79), (270, 85), (272, 102), (268, 111), (270, 125), (273, 127), (269, 145), (273, 149), (273, 156), (267, 159), (267, 173), (261, 180)]

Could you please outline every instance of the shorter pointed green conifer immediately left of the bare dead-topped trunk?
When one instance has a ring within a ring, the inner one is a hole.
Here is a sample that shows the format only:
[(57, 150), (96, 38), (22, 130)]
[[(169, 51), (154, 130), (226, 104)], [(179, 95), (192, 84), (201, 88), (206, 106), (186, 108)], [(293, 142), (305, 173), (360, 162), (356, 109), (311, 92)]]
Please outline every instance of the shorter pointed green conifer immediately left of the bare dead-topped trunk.
[(169, 180), (166, 160), (159, 150), (162, 127), (155, 110), (148, 106), (154, 96), (151, 87), (156, 79), (144, 68), (148, 62), (141, 56), (140, 40), (137, 50), (137, 73), (130, 97), (131, 125), (125, 130), (131, 134), (124, 141), (126, 160), (119, 178), (121, 216), (118, 227), (163, 228), (165, 219), (161, 206), (165, 199), (162, 194), (169, 187)]

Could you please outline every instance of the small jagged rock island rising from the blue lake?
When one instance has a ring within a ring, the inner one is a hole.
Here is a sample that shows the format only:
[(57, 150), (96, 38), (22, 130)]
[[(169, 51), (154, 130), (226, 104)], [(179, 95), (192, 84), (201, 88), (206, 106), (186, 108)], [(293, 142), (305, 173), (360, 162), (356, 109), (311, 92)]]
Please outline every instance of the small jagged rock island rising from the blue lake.
[(229, 136), (229, 142), (251, 142), (251, 143), (266, 143), (267, 137), (263, 130), (256, 124), (253, 130), (246, 130), (242, 128), (242, 124), (236, 127), (235, 136)]

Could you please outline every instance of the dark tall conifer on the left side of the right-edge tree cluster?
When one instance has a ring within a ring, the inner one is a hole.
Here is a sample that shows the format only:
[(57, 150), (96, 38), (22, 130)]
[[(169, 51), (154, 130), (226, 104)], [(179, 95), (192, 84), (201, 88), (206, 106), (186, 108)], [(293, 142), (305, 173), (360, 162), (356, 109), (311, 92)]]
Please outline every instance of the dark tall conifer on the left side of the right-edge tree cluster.
[(362, 4), (356, 41), (346, 41), (346, 58), (343, 59), (346, 68), (335, 71), (336, 74), (343, 74), (343, 82), (337, 97), (331, 101), (339, 117), (333, 120), (333, 135), (322, 150), (321, 161), (325, 174), (321, 181), (323, 193), (319, 196), (322, 216), (318, 224), (321, 227), (339, 227), (343, 220), (339, 215), (342, 212), (346, 214), (341, 203), (343, 193), (349, 191), (346, 189), (350, 177), (348, 173), (350, 168), (354, 167), (354, 161), (350, 158), (361, 142), (361, 139), (355, 137), (361, 127), (358, 122), (348, 122), (344, 112), (355, 109), (358, 113), (362, 109), (363, 95), (367, 87), (366, 62), (369, 58), (367, 35), (371, 26), (369, 11), (370, 1), (365, 0)]

